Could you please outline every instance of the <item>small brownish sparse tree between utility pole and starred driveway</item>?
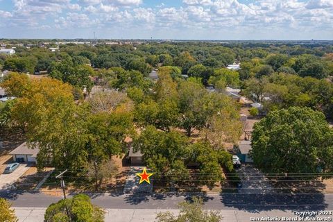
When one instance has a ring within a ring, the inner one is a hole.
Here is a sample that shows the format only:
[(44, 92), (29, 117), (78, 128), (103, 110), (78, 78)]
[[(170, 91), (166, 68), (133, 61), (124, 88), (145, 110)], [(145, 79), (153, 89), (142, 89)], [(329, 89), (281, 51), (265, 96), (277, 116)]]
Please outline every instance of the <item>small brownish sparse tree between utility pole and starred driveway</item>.
[(103, 180), (111, 179), (118, 173), (118, 167), (113, 160), (97, 162), (92, 160), (87, 164), (87, 177), (94, 180), (96, 191), (101, 187)]

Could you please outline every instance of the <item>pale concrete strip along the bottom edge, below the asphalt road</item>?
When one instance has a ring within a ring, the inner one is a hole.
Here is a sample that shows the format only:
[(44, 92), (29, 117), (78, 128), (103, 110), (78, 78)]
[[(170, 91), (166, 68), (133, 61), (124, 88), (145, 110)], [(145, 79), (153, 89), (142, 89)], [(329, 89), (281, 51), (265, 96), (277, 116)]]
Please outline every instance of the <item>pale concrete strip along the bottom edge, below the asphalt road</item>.
[[(44, 212), (46, 208), (29, 208), (29, 207), (16, 207), (15, 213), (19, 222), (42, 222), (44, 221)], [(179, 210), (151, 210), (151, 209), (106, 209), (105, 210), (105, 221), (112, 222), (153, 222), (156, 221), (155, 217), (158, 212), (172, 212), (178, 214)], [(245, 210), (219, 210), (223, 218), (223, 222), (249, 222), (251, 218), (275, 218), (278, 217), (282, 221), (282, 217), (295, 218), (293, 212), (290, 210), (270, 210), (270, 211), (253, 211), (248, 212)], [(331, 220), (332, 216), (321, 216), (328, 217)], [(300, 220), (298, 220), (300, 221)]]

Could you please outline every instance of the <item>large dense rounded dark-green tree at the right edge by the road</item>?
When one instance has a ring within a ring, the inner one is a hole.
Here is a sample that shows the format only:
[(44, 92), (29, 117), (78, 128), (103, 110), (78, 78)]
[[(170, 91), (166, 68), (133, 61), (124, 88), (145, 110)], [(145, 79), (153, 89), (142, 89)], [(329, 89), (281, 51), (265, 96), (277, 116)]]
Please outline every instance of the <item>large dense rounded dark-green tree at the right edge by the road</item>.
[(251, 155), (269, 173), (332, 171), (333, 133), (325, 116), (309, 108), (276, 110), (255, 124)]

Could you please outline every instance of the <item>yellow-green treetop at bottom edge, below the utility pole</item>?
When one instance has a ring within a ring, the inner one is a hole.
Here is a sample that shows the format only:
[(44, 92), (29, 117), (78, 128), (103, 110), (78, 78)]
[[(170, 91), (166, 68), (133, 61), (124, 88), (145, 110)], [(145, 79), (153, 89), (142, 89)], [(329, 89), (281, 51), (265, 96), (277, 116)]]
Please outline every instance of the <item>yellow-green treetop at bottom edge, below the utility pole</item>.
[(44, 214), (44, 220), (46, 222), (103, 222), (104, 214), (101, 208), (92, 205), (89, 196), (78, 194), (73, 198), (49, 205)]

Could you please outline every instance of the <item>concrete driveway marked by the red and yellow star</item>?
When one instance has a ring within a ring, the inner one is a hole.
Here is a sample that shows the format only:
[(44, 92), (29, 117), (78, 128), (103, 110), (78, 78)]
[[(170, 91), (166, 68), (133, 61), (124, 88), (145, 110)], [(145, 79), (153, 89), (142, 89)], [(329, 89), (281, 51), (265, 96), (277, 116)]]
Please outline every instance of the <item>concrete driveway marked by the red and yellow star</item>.
[(137, 176), (137, 173), (142, 173), (143, 169), (144, 167), (130, 167), (130, 171), (128, 171), (128, 176), (126, 179), (126, 184), (123, 188), (124, 194), (151, 194), (151, 192), (153, 191), (153, 180), (151, 178), (150, 185), (146, 182), (143, 182), (141, 185), (139, 185), (140, 178)]

